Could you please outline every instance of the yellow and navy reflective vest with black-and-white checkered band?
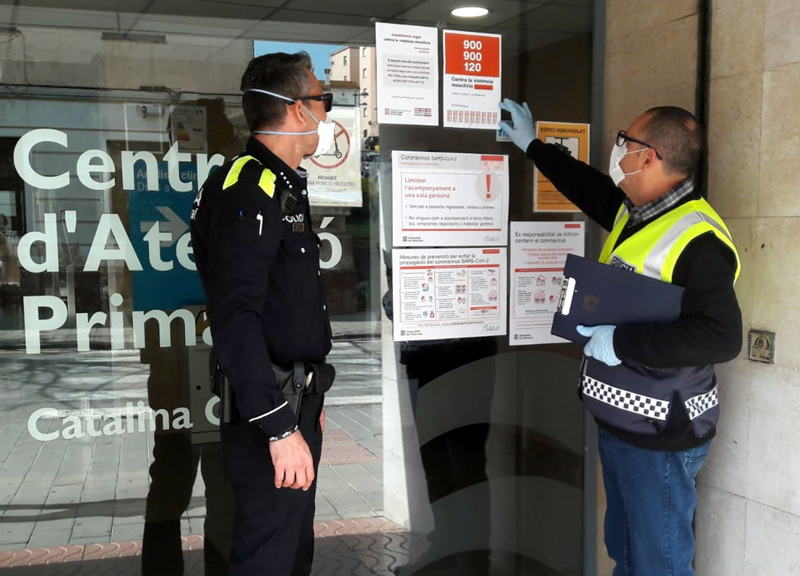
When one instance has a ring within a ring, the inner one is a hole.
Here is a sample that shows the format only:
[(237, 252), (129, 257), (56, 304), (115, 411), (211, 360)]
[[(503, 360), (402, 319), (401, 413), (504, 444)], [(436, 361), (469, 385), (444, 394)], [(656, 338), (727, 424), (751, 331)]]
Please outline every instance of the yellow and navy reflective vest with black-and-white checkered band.
[[(730, 232), (705, 200), (691, 200), (673, 208), (616, 246), (628, 216), (623, 204), (600, 254), (601, 262), (671, 283), (686, 247), (710, 232), (736, 255), (738, 278), (741, 264)], [(697, 438), (712, 433), (719, 418), (713, 366), (664, 369), (631, 361), (607, 366), (584, 358), (581, 396), (600, 422), (645, 436), (664, 432), (676, 406), (685, 411)]]

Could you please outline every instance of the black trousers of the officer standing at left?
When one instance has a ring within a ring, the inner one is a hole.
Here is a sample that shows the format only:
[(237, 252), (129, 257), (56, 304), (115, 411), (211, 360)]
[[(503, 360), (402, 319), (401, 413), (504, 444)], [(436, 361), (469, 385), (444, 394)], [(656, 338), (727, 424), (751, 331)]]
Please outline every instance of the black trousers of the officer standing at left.
[(315, 479), (303, 492), (275, 488), (264, 432), (246, 420), (222, 424), (225, 473), (235, 498), (229, 576), (308, 576), (314, 559), (314, 495), (322, 453), (323, 396), (307, 395), (300, 432), (314, 459)]

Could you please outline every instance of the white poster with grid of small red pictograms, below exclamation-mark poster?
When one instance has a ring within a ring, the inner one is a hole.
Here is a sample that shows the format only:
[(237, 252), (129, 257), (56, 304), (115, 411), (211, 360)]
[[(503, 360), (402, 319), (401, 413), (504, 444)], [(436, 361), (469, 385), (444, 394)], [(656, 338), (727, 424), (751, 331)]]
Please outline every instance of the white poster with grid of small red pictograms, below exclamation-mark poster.
[(506, 249), (405, 249), (392, 254), (394, 339), (506, 333)]

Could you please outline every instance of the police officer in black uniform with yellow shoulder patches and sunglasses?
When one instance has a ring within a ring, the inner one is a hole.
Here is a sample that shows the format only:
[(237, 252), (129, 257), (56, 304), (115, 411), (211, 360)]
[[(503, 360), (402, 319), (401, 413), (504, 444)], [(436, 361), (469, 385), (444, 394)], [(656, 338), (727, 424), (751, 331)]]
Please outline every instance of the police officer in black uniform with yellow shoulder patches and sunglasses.
[(252, 136), (200, 189), (191, 226), (214, 352), (233, 392), (231, 421), (221, 426), (236, 498), (229, 574), (305, 576), (323, 397), (304, 394), (298, 419), (273, 368), (323, 362), (331, 348), (299, 165), (333, 143), (332, 95), (322, 93), (305, 52), (253, 59), (241, 89)]

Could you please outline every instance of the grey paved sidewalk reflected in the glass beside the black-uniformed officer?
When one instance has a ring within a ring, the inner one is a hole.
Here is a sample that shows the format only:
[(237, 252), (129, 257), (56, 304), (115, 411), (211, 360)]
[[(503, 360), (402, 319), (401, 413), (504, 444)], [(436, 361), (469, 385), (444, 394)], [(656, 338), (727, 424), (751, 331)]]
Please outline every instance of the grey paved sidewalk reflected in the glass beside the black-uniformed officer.
[[(326, 413), (317, 519), (381, 516), (380, 404), (332, 406)], [(0, 552), (141, 539), (151, 442), (151, 436), (130, 434), (42, 444), (21, 435), (8, 454), (19, 474), (4, 470), (0, 480), (0, 502), (8, 503), (0, 517)], [(204, 493), (198, 472), (181, 522), (184, 534), (203, 532)]]

